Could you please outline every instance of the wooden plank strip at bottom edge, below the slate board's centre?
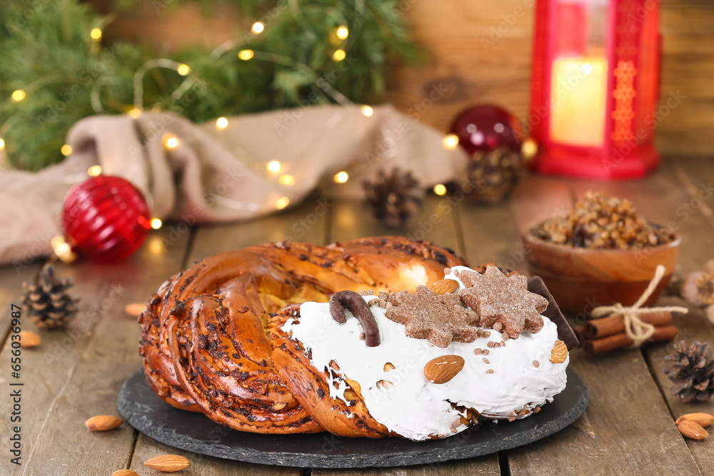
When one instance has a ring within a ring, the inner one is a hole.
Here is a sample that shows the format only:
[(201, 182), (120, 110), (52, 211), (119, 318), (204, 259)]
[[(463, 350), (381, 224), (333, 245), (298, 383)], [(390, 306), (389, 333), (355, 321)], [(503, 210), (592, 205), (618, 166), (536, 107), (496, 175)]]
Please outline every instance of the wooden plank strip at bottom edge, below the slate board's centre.
[(495, 454), (471, 458), (470, 460), (449, 461), (421, 466), (354, 470), (321, 470), (316, 468), (312, 470), (312, 476), (461, 476), (500, 474), (498, 456)]

